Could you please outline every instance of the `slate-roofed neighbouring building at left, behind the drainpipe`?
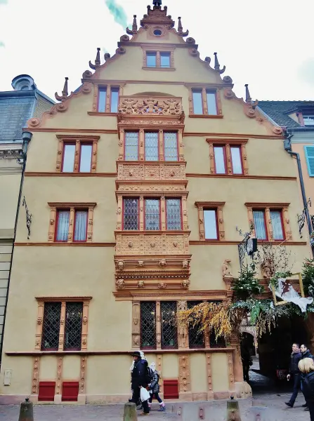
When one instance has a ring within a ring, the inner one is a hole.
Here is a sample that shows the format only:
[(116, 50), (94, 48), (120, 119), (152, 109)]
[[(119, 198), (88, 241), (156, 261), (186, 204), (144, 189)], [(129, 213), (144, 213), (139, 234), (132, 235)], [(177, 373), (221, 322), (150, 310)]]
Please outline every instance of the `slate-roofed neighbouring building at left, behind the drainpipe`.
[(0, 363), (15, 217), (28, 141), (22, 128), (28, 119), (40, 116), (54, 104), (27, 74), (16, 76), (12, 87), (14, 91), (0, 92)]

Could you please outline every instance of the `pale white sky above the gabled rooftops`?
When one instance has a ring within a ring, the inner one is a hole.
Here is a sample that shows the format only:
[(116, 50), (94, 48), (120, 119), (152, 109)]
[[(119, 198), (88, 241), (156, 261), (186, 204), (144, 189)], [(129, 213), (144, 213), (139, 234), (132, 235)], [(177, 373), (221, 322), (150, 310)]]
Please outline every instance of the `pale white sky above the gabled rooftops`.
[[(117, 41), (152, 0), (0, 0), (0, 91), (18, 74), (30, 74), (54, 99), (64, 77), (69, 91), (94, 62), (96, 48), (115, 53)], [(200, 57), (218, 53), (225, 75), (243, 97), (249, 83), (258, 100), (314, 100), (314, 1), (162, 0), (181, 16)], [(127, 79), (127, 74), (126, 74)]]

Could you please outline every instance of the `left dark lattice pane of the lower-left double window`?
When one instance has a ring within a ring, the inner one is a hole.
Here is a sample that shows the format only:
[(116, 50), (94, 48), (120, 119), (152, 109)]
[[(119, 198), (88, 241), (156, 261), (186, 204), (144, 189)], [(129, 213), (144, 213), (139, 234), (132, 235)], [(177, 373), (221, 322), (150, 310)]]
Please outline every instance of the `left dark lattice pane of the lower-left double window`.
[(41, 349), (51, 349), (57, 351), (59, 348), (60, 333), (60, 302), (45, 302), (44, 322), (41, 334)]

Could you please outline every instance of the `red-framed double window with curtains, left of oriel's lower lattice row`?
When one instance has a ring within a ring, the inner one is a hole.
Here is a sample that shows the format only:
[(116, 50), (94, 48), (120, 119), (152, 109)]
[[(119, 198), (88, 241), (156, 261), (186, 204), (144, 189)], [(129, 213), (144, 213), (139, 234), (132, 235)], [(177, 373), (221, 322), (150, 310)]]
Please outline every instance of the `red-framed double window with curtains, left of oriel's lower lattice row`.
[[(74, 210), (74, 233), (73, 241), (86, 241), (87, 235), (87, 210)], [(70, 226), (70, 210), (58, 210), (57, 229), (55, 241), (67, 241)]]

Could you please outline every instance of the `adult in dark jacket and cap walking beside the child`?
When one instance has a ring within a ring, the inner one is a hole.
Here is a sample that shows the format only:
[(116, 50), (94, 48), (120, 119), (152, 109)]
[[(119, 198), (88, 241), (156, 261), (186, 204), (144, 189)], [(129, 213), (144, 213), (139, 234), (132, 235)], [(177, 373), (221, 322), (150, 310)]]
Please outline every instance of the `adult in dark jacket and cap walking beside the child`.
[[(131, 402), (138, 403), (140, 388), (145, 387), (145, 389), (148, 389), (148, 362), (141, 358), (139, 351), (133, 352), (132, 356), (134, 367), (131, 372), (131, 389), (133, 390)], [(141, 415), (148, 415), (150, 413), (148, 401), (142, 402), (142, 405), (143, 414)]]

